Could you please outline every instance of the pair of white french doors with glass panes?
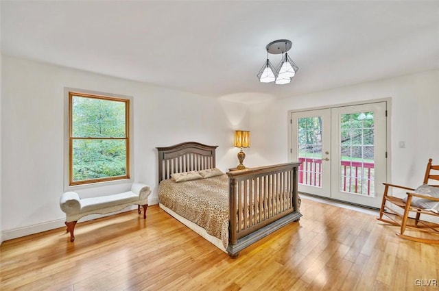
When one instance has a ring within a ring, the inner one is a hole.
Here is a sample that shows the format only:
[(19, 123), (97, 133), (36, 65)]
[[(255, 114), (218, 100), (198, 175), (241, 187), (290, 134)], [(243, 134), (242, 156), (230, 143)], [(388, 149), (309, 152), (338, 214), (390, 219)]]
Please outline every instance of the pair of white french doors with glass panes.
[(292, 112), (300, 192), (379, 207), (386, 179), (386, 102)]

